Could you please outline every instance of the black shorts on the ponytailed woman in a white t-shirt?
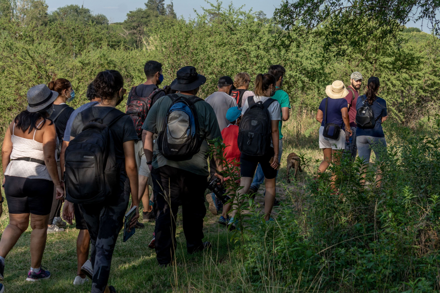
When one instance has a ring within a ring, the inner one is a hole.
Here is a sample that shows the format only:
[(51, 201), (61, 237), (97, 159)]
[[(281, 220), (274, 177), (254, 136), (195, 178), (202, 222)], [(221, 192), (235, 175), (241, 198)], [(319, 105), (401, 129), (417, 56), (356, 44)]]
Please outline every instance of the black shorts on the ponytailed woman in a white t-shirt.
[(277, 170), (270, 167), (269, 164), (270, 158), (272, 158), (274, 154), (273, 147), (269, 147), (263, 156), (249, 156), (242, 154), (240, 156), (240, 174), (242, 177), (253, 178), (258, 163), (260, 163), (264, 178), (273, 179), (277, 177)]

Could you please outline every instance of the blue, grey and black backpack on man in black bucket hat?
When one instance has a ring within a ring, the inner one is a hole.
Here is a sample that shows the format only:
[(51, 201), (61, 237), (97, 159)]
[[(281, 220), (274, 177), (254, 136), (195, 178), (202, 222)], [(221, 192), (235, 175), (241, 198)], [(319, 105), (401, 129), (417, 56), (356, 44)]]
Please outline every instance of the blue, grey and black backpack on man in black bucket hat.
[(157, 136), (159, 152), (171, 161), (190, 160), (200, 151), (205, 139), (199, 135), (195, 103), (203, 101), (196, 96), (168, 95), (173, 102), (168, 109), (162, 130)]

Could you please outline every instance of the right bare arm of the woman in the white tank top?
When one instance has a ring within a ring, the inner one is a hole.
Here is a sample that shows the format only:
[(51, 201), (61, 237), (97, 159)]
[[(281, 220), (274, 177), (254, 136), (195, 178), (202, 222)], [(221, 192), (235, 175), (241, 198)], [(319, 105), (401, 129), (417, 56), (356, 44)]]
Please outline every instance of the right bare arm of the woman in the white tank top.
[(44, 163), (57, 190), (57, 199), (63, 199), (64, 188), (60, 182), (60, 177), (58, 177), (57, 160), (55, 158), (55, 149), (57, 146), (56, 136), (55, 124), (49, 125), (49, 122), (47, 122), (43, 130)]

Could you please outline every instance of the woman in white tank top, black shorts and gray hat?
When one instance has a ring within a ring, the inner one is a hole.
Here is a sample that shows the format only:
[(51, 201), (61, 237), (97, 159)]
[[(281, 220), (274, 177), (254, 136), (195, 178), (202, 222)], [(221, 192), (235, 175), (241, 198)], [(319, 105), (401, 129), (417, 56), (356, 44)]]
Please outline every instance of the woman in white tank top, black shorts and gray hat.
[(9, 225), (0, 240), (0, 280), (4, 275), (4, 258), (29, 226), (29, 218), (32, 257), (26, 280), (37, 281), (50, 276), (50, 272), (41, 268), (41, 261), (54, 186), (57, 198), (64, 198), (56, 163), (55, 125), (47, 119), (57, 96), (58, 93), (45, 84), (30, 88), (27, 110), (9, 125), (3, 140), (3, 188), (9, 209)]

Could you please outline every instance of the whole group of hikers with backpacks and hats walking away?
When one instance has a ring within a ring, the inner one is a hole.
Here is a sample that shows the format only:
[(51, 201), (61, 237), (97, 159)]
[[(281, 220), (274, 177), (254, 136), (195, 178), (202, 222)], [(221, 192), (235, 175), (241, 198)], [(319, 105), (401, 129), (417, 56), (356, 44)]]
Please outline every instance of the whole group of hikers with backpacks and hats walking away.
[[(289, 96), (281, 89), (285, 68), (271, 65), (268, 73), (258, 74), (253, 91), (245, 72), (234, 80), (222, 76), (218, 91), (205, 100), (197, 93), (206, 78), (193, 66), (180, 68), (163, 88), (161, 63), (147, 62), (144, 72), (146, 82), (130, 90), (125, 113), (116, 109), (127, 92), (116, 70), (99, 72), (87, 88), (90, 102), (77, 109), (66, 105), (75, 97), (66, 79), (28, 90), (27, 109), (11, 122), (2, 146), (9, 224), (0, 240), (0, 280), (5, 257), (27, 230), (29, 218), (27, 281), (50, 277), (41, 265), (47, 233), (63, 232), (67, 223), (75, 222), (79, 233), (73, 284), (83, 284), (88, 277), (92, 293), (116, 292), (108, 285), (110, 264), (130, 195), (130, 208), (142, 201), (142, 222), (155, 221), (149, 247), (155, 249), (161, 267), (175, 261), (179, 206), (190, 254), (211, 248), (202, 241), (205, 198), (209, 210), (221, 214), (220, 224), (238, 229), (236, 207), (243, 194), (256, 193), (264, 182), (264, 220), (274, 221), (272, 208), (280, 204), (275, 187), (283, 152), (282, 121), (289, 119), (290, 109)], [(353, 72), (349, 87), (336, 81), (326, 88), (328, 98), (316, 116), (322, 123), (319, 146), (324, 151), (319, 172), (337, 160), (332, 154), (338, 149), (348, 147), (355, 157), (357, 146), (359, 156), (369, 162), (370, 146), (385, 145), (381, 123), (386, 120), (386, 103), (376, 96), (379, 80), (369, 79), (364, 96), (358, 93), (361, 83), (361, 74)], [(372, 128), (367, 121), (368, 127), (359, 127), (357, 109), (372, 111), (379, 117), (376, 125)], [(223, 178), (220, 149), (210, 155), (213, 146), (208, 142), (214, 140), (224, 142), (226, 162), (240, 168), (242, 188), (225, 205), (214, 192), (205, 195), (212, 180), (221, 188), (228, 180)], [(134, 210), (127, 225), (141, 229), (139, 209)]]

